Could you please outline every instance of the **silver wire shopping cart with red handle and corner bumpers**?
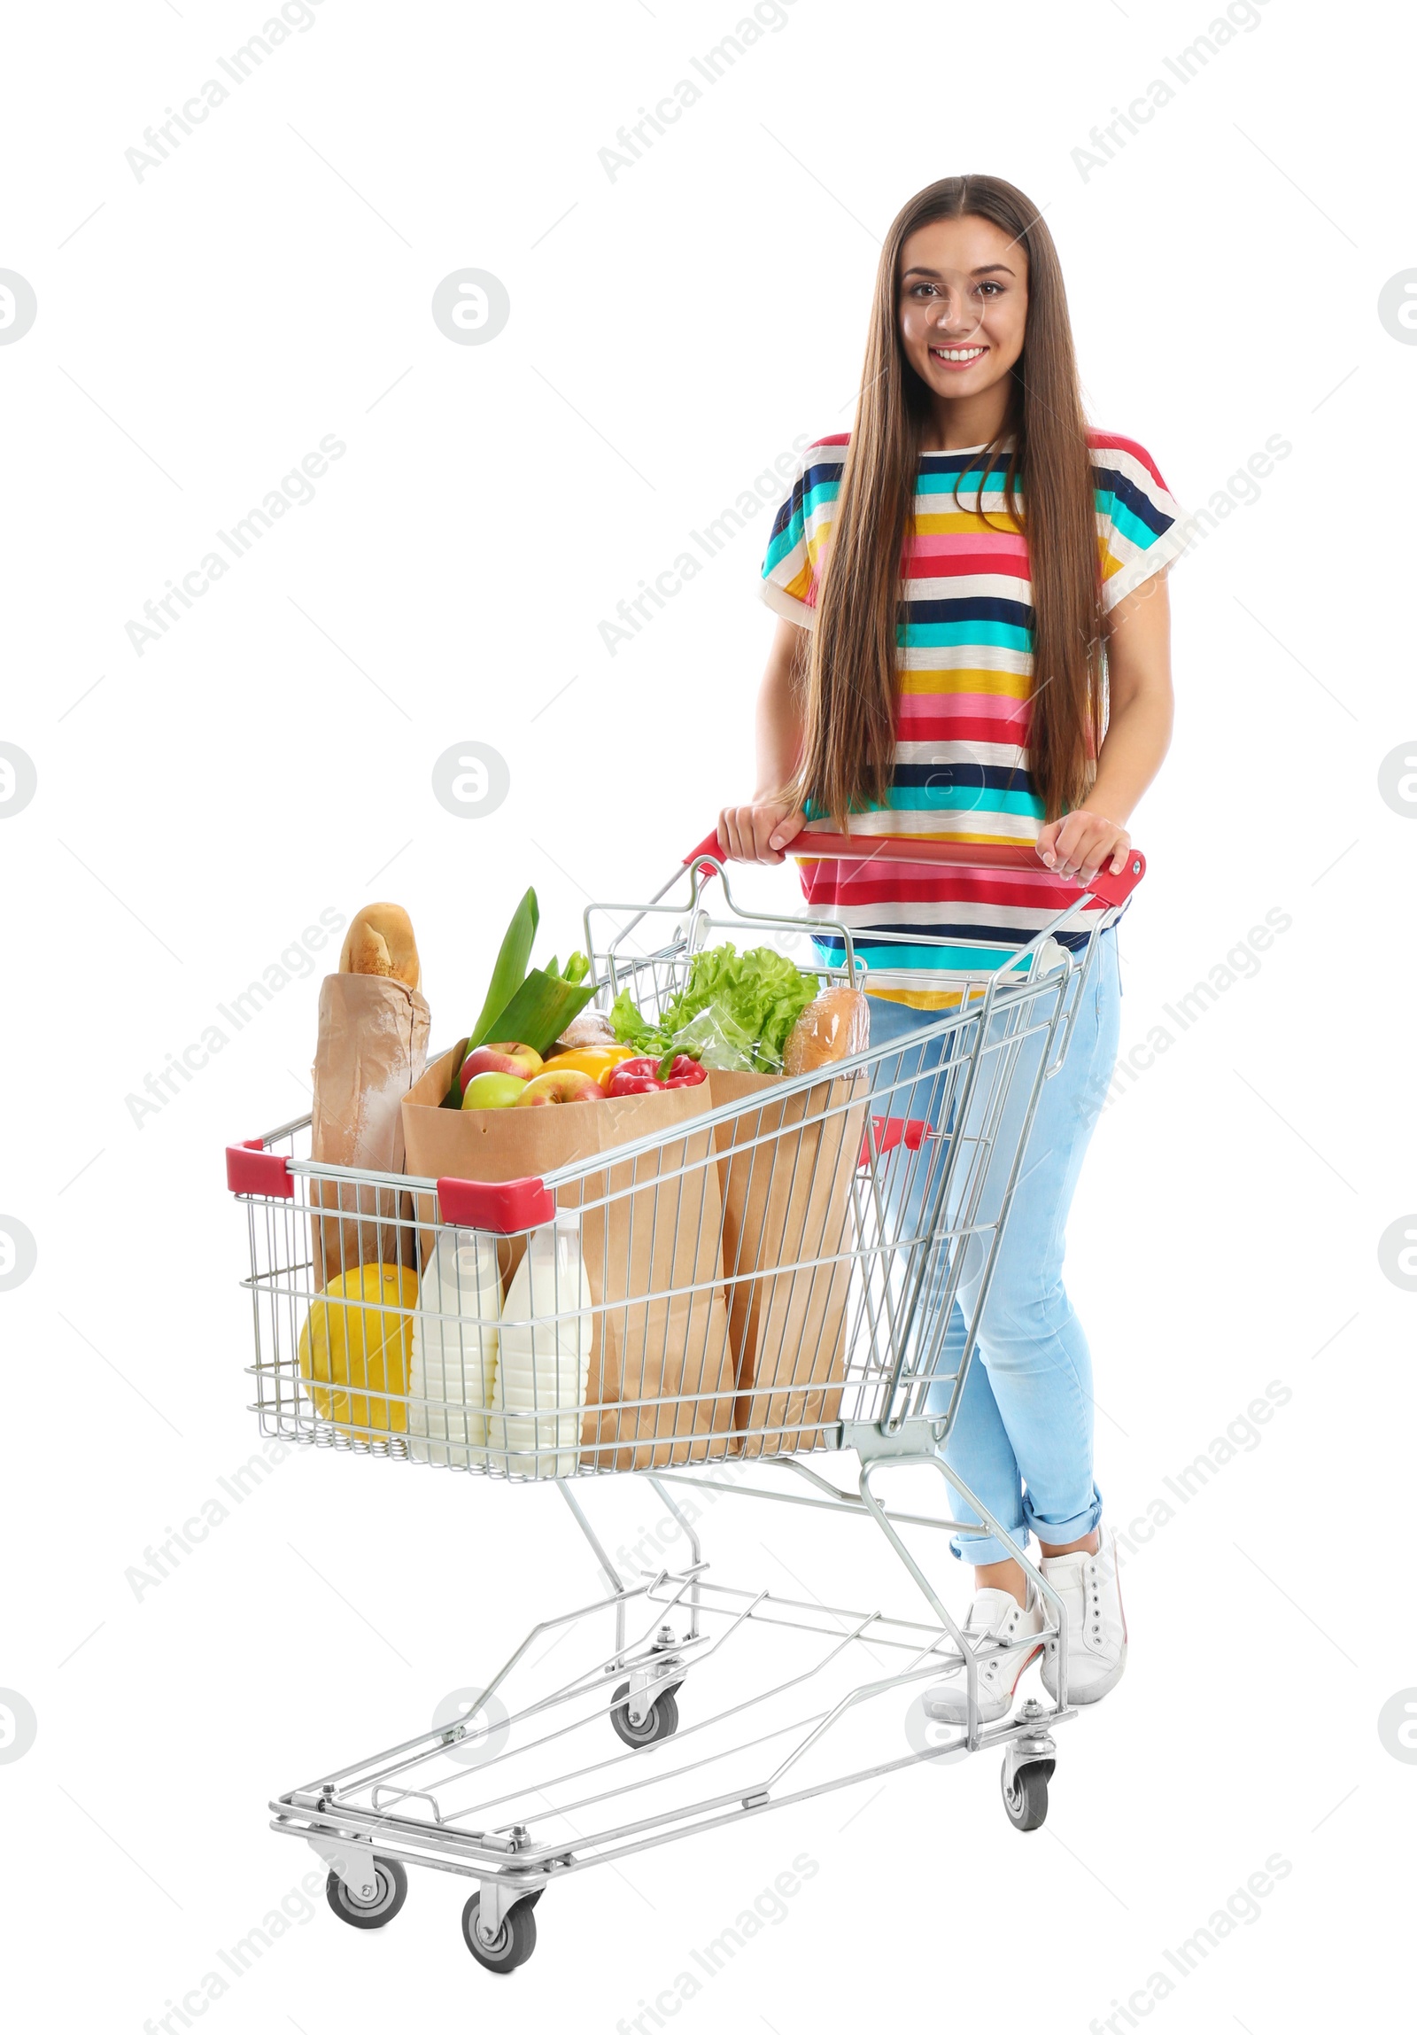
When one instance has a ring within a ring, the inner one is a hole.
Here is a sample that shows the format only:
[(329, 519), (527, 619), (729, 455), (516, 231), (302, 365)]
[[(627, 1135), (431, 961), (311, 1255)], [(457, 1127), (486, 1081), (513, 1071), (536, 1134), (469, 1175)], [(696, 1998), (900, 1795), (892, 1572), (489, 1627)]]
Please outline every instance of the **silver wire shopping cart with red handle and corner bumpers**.
[[(811, 853), (1039, 875), (1031, 849), (813, 834)], [(1039, 1827), (1051, 1726), (1073, 1716), (1063, 1602), (958, 1473), (949, 1481), (982, 1526), (897, 1510), (876, 1486), (907, 1469), (943, 1479), (1039, 1093), (1094, 965), (1098, 906), (1122, 904), (1143, 871), (1130, 853), (1122, 875), (1098, 873), (1000, 969), (951, 977), (958, 1005), (921, 1011), (903, 1042), (795, 1081), (742, 1077), (669, 1136), (541, 1178), (319, 1164), (307, 1156), (309, 1117), (228, 1150), (248, 1219), (262, 1433), (504, 1484), (555, 1481), (606, 1583), (604, 1597), (537, 1624), (453, 1722), (272, 1801), (272, 1827), (329, 1864), (344, 1921), (388, 1923), (407, 1864), (455, 1872), (476, 1880), (468, 1950), (510, 1972), (535, 1947), (537, 1901), (565, 1874), (990, 1746), (1002, 1750), (1010, 1821)], [(1073, 920), (1061, 944), (1055, 934)], [(630, 989), (644, 1011), (663, 1007), (693, 954), (724, 934), (811, 940), (799, 965), (823, 987), (868, 981), (846, 924), (736, 906), (710, 836), (646, 906), (586, 912), (602, 1005)], [(909, 944), (925, 942), (911, 932)], [(569, 1258), (539, 1260), (551, 1266), (551, 1304), (543, 1286), (518, 1317), (514, 1292), (529, 1288), (510, 1266), (537, 1233), (545, 1249), (551, 1231), (569, 1233)], [(451, 1290), (427, 1276), (445, 1249)], [(352, 1286), (329, 1284), (335, 1256)], [(370, 1258), (372, 1300), (360, 1284)], [(968, 1333), (945, 1374), (966, 1262)], [(520, 1378), (520, 1396), (502, 1374)], [(642, 1479), (687, 1559), (622, 1573), (581, 1504), (604, 1475)], [(683, 1486), (714, 1502), (732, 1492), (870, 1522), (923, 1616), (712, 1577), (699, 1510), (675, 1496)], [(907, 1530), (992, 1532), (1014, 1549), (1045, 1604), (1055, 1703), (1029, 1699), (982, 1722), (972, 1642)], [(557, 1679), (545, 1687), (539, 1642), (551, 1640)], [(947, 1675), (964, 1677), (960, 1728), (927, 1724), (919, 1701)], [(880, 1758), (882, 1732), (907, 1750)]]

